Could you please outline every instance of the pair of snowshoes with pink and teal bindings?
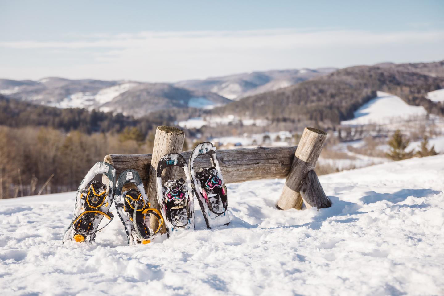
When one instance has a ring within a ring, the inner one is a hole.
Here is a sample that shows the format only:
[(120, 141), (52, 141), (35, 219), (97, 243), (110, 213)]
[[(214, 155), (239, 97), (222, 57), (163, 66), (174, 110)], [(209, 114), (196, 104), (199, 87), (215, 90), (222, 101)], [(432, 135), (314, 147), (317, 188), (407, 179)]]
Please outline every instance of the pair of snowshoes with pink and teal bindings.
[[(196, 158), (209, 155), (210, 168), (194, 170)], [(183, 178), (168, 180), (163, 183), (162, 172), (167, 167), (177, 166), (183, 170)], [(190, 156), (188, 165), (181, 154), (164, 155), (157, 166), (157, 199), (165, 217), (167, 233), (180, 229), (194, 229), (194, 195), (199, 205), (207, 228), (227, 225), (230, 217), (226, 186), (216, 158), (216, 147), (210, 142), (196, 146)]]

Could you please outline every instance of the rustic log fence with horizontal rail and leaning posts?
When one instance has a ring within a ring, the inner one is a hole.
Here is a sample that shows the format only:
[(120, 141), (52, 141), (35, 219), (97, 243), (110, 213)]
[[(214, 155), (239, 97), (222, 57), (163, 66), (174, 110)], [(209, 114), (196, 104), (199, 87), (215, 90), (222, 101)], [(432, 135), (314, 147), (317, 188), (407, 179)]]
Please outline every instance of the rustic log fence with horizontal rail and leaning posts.
[[(277, 202), (279, 209), (301, 209), (306, 207), (327, 208), (331, 202), (326, 197), (314, 167), (327, 135), (324, 131), (307, 127), (298, 146), (257, 147), (217, 150), (217, 158), (226, 183), (251, 180), (287, 178), (281, 197)], [(124, 170), (139, 172), (151, 207), (159, 208), (156, 198), (156, 171), (159, 159), (168, 153), (181, 153), (189, 159), (192, 151), (181, 152), (185, 135), (182, 130), (170, 126), (159, 126), (156, 130), (153, 154), (110, 154), (104, 161), (116, 169), (116, 178)], [(196, 167), (210, 167), (210, 158), (197, 158)], [(181, 176), (181, 172), (164, 170), (166, 179)], [(151, 227), (157, 228), (157, 219), (151, 220)]]

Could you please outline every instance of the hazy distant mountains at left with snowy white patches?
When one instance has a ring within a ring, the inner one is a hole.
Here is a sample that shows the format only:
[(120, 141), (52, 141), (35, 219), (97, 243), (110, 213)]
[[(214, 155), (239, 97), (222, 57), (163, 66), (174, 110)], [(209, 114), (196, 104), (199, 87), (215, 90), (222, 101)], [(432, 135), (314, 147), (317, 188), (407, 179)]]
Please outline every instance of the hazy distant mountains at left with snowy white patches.
[(208, 91), (192, 91), (168, 83), (70, 80), (0, 79), (0, 94), (38, 105), (122, 112), (136, 117), (166, 108), (211, 108), (231, 100)]

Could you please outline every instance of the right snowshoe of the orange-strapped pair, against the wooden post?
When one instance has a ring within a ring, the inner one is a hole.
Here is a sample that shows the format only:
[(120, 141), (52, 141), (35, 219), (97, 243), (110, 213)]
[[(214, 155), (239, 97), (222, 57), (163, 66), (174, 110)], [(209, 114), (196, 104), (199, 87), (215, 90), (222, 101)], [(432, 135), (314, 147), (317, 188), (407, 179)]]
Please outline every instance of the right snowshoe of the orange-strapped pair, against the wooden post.
[[(123, 186), (132, 183), (135, 188), (123, 192)], [(128, 245), (147, 244), (159, 232), (163, 217), (157, 209), (151, 209), (143, 183), (135, 170), (126, 170), (119, 176), (115, 190), (115, 208), (127, 233)], [(159, 220), (159, 227), (150, 228), (151, 215)]]

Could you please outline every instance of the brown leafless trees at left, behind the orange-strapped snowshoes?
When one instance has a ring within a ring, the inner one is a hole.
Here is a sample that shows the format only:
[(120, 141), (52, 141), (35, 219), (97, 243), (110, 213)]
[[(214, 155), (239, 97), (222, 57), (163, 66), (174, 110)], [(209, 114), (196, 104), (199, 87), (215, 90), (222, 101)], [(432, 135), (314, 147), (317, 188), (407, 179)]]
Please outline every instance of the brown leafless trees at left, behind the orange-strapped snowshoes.
[[(151, 153), (154, 133), (68, 133), (52, 127), (0, 126), (0, 198), (76, 190), (107, 154)], [(46, 183), (46, 185), (45, 185)]]

